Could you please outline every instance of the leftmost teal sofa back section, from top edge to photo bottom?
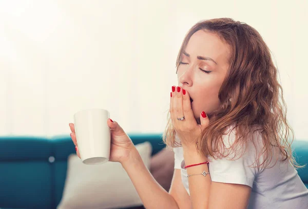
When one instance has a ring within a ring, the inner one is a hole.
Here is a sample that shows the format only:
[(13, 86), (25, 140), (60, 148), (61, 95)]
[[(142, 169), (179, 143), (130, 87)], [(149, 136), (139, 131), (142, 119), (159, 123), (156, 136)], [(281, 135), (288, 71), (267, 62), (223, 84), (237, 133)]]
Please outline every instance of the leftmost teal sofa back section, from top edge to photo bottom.
[(50, 150), (45, 138), (1, 137), (0, 207), (52, 208)]

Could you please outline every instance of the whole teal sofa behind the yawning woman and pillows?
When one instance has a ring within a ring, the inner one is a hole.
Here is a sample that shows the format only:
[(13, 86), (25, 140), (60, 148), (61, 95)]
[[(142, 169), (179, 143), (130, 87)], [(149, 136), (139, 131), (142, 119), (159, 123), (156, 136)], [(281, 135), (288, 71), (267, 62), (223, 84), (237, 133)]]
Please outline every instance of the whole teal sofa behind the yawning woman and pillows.
[[(134, 144), (149, 141), (152, 155), (165, 147), (161, 134), (131, 134)], [(308, 141), (295, 141), (300, 164), (308, 162)], [(68, 136), (0, 137), (0, 208), (54, 209), (60, 203), (67, 158), (75, 153)], [(308, 166), (298, 174), (308, 187)]]

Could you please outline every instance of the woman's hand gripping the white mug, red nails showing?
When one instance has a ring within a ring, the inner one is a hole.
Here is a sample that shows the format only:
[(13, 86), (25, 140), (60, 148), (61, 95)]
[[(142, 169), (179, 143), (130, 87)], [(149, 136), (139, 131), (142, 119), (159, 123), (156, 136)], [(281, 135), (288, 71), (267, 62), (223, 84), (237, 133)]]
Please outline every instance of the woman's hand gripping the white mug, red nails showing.
[[(110, 134), (111, 134), (109, 161), (123, 163), (125, 160), (129, 158), (131, 150), (134, 149), (135, 147), (131, 139), (127, 136), (127, 134), (124, 132), (124, 130), (117, 122), (115, 121), (113, 122), (111, 119), (108, 119), (107, 125), (110, 128)], [(69, 123), (69, 127), (72, 131), (70, 136), (75, 145), (76, 154), (80, 158), (78, 144), (76, 141), (74, 124)]]

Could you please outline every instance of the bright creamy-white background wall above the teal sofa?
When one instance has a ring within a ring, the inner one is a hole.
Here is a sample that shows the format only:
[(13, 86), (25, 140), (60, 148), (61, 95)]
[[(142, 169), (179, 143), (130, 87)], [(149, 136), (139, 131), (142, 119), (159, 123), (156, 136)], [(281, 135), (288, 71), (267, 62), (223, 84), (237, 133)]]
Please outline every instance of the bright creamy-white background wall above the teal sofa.
[(232, 17), (272, 50), (296, 138), (308, 139), (307, 1), (0, 1), (0, 135), (68, 134), (75, 111), (162, 132), (175, 61), (196, 22)]

